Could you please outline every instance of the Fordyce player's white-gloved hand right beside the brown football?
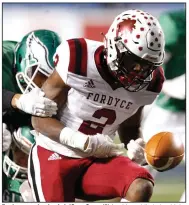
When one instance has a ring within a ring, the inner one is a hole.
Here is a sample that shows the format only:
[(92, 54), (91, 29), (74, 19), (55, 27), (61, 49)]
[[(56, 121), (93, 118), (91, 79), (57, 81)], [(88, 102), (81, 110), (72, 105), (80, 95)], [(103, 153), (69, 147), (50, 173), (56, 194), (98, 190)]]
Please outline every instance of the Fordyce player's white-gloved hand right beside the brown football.
[(130, 140), (127, 144), (127, 156), (132, 161), (135, 161), (137, 164), (143, 165), (146, 163), (144, 157), (144, 146), (145, 142), (142, 138), (138, 138), (137, 140)]

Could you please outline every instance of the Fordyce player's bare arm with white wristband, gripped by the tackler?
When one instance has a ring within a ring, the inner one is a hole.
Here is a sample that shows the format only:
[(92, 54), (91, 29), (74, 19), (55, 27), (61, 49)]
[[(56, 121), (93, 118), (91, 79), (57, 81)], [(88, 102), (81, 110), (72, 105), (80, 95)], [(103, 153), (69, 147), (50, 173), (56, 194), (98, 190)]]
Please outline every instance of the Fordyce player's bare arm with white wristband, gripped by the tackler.
[[(47, 98), (57, 103), (58, 109), (60, 109), (67, 101), (70, 87), (63, 81), (58, 72), (54, 70), (41, 89)], [(32, 116), (32, 126), (37, 132), (58, 143), (83, 151), (87, 149), (89, 143), (88, 136), (66, 127), (55, 117), (41, 118)]]

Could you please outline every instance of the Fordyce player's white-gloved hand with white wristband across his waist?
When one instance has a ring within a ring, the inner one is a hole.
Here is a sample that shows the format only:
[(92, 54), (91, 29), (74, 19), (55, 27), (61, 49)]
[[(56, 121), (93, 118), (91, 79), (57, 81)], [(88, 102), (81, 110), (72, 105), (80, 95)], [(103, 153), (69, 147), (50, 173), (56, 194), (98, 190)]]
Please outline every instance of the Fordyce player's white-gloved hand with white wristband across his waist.
[(62, 129), (59, 137), (60, 143), (79, 149), (89, 156), (97, 158), (113, 157), (123, 154), (124, 144), (115, 144), (108, 135), (86, 135), (73, 131), (69, 127)]

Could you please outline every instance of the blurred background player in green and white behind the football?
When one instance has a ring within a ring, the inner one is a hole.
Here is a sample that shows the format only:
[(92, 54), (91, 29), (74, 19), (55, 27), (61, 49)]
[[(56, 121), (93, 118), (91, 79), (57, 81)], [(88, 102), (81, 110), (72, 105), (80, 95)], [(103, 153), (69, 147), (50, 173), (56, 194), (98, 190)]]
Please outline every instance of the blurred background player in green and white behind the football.
[[(186, 73), (186, 13), (171, 11), (160, 16), (165, 34), (166, 62), (163, 66), (166, 81), (162, 92), (143, 122), (146, 141), (161, 131), (173, 132), (185, 144), (185, 73)], [(149, 129), (150, 128), (150, 129)], [(156, 171), (153, 170), (154, 175)], [(185, 196), (181, 201), (185, 201)]]

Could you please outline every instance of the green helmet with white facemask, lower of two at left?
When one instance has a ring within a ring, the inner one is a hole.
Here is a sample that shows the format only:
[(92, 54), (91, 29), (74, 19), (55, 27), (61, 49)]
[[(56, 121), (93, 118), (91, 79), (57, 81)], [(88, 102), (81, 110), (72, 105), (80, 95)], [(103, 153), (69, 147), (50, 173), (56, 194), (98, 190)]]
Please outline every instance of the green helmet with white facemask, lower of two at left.
[[(13, 143), (29, 155), (30, 149), (35, 142), (35, 137), (31, 134), (31, 127), (23, 126), (13, 132)], [(13, 161), (11, 148), (4, 153), (3, 172), (12, 180), (24, 181), (27, 179), (27, 168), (21, 167)]]

